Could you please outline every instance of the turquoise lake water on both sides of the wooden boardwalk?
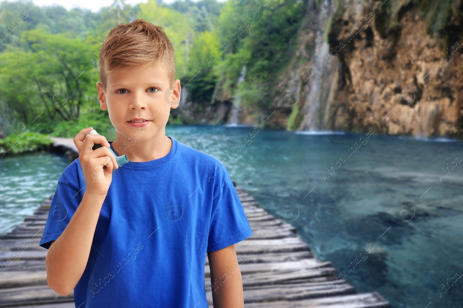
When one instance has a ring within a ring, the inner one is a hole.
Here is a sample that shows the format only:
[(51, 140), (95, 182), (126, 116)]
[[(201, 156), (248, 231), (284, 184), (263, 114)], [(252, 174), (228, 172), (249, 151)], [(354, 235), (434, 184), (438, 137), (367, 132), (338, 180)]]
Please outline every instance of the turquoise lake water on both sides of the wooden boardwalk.
[[(378, 291), (392, 307), (461, 307), (461, 141), (256, 132), (166, 127), (166, 135), (224, 161), (237, 185), (293, 224), (359, 293)], [(54, 154), (0, 159), (0, 233), (54, 193), (68, 164)]]

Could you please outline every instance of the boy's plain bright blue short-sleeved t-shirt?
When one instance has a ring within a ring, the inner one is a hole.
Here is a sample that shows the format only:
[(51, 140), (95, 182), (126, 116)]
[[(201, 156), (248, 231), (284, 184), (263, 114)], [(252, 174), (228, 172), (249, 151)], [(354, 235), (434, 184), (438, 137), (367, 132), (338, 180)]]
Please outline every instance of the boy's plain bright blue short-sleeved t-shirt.
[[(168, 137), (166, 156), (113, 170), (75, 307), (207, 308), (206, 252), (252, 235), (226, 167)], [(58, 181), (41, 247), (62, 234), (85, 185), (76, 158)]]

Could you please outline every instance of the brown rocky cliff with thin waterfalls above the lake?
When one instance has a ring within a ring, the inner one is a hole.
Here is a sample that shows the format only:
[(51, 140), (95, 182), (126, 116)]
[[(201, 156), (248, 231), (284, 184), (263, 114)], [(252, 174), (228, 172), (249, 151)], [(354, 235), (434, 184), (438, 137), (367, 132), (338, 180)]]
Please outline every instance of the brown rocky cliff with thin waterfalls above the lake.
[[(461, 137), (462, 9), (461, 0), (309, 1), (276, 80), (280, 95), (268, 110), (239, 109), (238, 123), (269, 117), (266, 127), (289, 130)], [(230, 122), (232, 102), (219, 92), (198, 120)]]

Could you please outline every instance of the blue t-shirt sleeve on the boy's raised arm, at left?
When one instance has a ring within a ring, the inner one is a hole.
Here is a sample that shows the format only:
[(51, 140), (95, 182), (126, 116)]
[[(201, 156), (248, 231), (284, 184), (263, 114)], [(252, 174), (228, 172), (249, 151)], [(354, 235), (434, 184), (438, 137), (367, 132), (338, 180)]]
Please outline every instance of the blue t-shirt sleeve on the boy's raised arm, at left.
[(44, 234), (39, 243), (41, 247), (49, 249), (51, 241), (56, 241), (63, 233), (81, 200), (79, 189), (58, 181), (56, 192), (51, 200)]

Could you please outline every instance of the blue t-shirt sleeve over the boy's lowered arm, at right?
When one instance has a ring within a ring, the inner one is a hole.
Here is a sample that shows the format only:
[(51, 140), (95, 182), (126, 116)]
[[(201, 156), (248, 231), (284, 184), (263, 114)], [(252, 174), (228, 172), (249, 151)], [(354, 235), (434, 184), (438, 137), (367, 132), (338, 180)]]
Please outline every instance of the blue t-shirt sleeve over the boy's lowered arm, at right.
[(230, 174), (228, 171), (225, 174), (222, 192), (213, 199), (207, 252), (228, 247), (252, 235), (248, 218)]

